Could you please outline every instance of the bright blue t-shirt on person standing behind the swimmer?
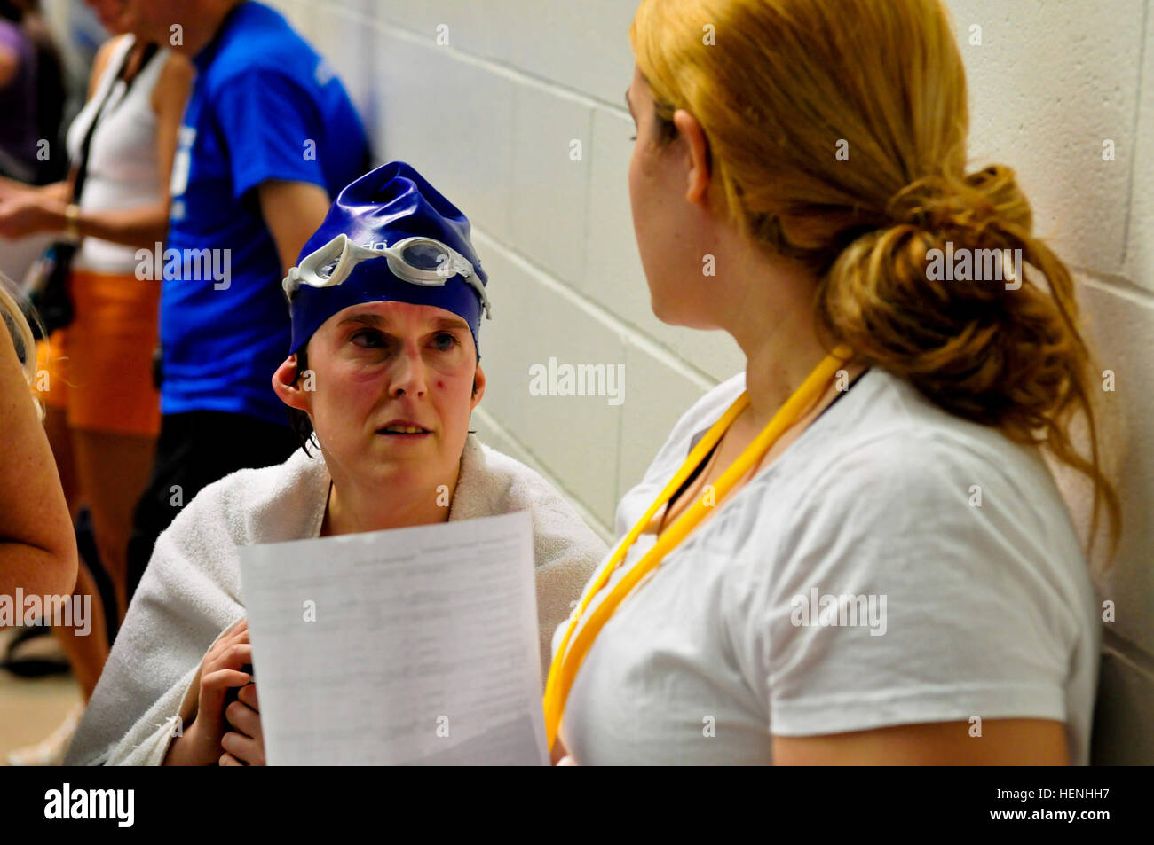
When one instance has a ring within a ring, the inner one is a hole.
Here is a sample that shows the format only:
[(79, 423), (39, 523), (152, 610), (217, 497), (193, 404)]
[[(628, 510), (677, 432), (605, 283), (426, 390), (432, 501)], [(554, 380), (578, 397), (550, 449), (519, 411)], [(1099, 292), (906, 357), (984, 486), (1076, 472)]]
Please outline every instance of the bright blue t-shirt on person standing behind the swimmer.
[(365, 128), (328, 62), (262, 3), (237, 7), (194, 62), (158, 267), (160, 409), (287, 425), (271, 387), (290, 346), (284, 269), (255, 188), (312, 182), (336, 196), (369, 167)]

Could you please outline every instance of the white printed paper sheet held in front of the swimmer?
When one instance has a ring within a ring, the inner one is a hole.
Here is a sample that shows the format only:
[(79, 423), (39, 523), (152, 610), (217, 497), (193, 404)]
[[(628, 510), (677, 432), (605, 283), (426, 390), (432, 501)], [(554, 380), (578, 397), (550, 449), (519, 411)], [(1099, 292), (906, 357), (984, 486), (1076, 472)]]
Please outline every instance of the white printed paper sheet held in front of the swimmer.
[(241, 549), (270, 765), (547, 765), (527, 513)]

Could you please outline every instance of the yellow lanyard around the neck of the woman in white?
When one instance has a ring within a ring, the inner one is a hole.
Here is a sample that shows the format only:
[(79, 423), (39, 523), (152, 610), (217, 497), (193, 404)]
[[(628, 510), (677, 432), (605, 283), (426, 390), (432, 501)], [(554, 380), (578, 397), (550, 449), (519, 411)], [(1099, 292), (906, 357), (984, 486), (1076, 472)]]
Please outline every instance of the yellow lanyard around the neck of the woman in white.
[[(837, 371), (841, 365), (849, 360), (852, 352), (849, 347), (841, 345), (835, 348), (830, 355), (825, 357), (817, 368), (807, 376), (802, 385), (794, 391), (793, 395), (786, 400), (773, 418), (770, 420), (769, 424), (762, 429), (762, 432), (754, 439), (749, 446), (737, 457), (729, 468), (722, 473), (721, 477), (718, 480), (717, 484), (713, 485), (714, 490), (714, 501), (720, 503), (726, 495), (733, 489), (733, 486), (745, 476), (749, 470), (757, 466), (765, 457), (765, 453), (773, 447), (778, 438), (781, 437), (782, 432), (786, 431), (790, 425), (801, 418), (801, 415), (805, 413), (805, 409), (820, 397), (825, 390), (829, 387), (830, 380), (837, 375)], [(585, 614), (586, 608), (589, 608), (590, 602), (593, 596), (595, 596), (606, 583), (608, 583), (609, 578), (613, 575), (614, 569), (617, 565), (624, 560), (625, 554), (629, 553), (629, 549), (632, 548), (634, 543), (642, 535), (645, 527), (650, 525), (654, 514), (669, 500), (674, 491), (679, 490), (685, 480), (690, 476), (694, 469), (702, 462), (702, 459), (713, 448), (717, 443), (721, 439), (721, 436), (729, 429), (733, 421), (737, 417), (741, 412), (745, 409), (749, 405), (749, 394), (742, 392), (740, 397), (729, 406), (729, 409), (721, 415), (705, 436), (698, 442), (698, 444), (690, 451), (689, 457), (685, 462), (681, 465), (681, 468), (674, 473), (673, 478), (669, 483), (665, 485), (665, 490), (661, 491), (660, 496), (650, 505), (649, 511), (645, 515), (638, 520), (637, 525), (634, 526), (632, 530), (625, 535), (625, 538), (617, 545), (613, 556), (602, 567), (601, 572), (597, 576), (597, 581), (593, 586), (586, 590), (585, 598), (582, 601), (580, 606), (578, 606), (577, 612), (574, 613), (572, 618), (569, 620), (569, 627), (565, 631), (564, 639), (561, 641), (561, 646), (557, 648), (557, 652), (553, 656), (553, 664), (549, 666), (549, 678), (545, 685), (545, 731), (546, 737), (549, 741), (549, 749), (553, 749), (553, 745), (556, 741), (557, 730), (561, 727), (561, 716), (565, 709), (565, 700), (569, 697), (569, 689), (572, 687), (574, 679), (577, 677), (577, 671), (580, 669), (582, 662), (585, 659), (585, 655), (589, 652), (590, 647), (593, 644), (594, 637), (601, 631), (601, 627), (608, 621), (609, 617), (613, 616), (617, 605), (621, 604), (622, 599), (637, 586), (651, 569), (657, 567), (676, 545), (685, 538), (685, 536), (697, 527), (697, 525), (705, 518), (711, 505), (706, 505), (703, 497), (698, 497), (692, 505), (687, 508), (687, 511), (677, 518), (677, 521), (669, 526), (666, 531), (658, 537), (657, 543), (653, 548), (645, 553), (644, 557), (637, 564), (627, 572), (621, 580), (614, 586), (609, 591), (609, 595), (605, 597), (598, 606), (597, 610), (590, 616), (585, 626), (580, 629), (577, 639), (574, 640), (572, 648), (569, 648), (569, 640), (572, 637), (574, 631), (577, 628), (577, 624), (580, 621), (582, 617)]]

